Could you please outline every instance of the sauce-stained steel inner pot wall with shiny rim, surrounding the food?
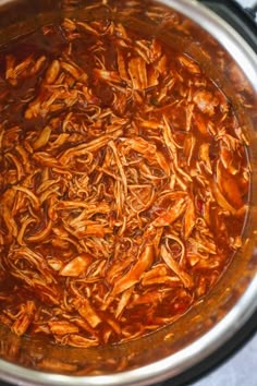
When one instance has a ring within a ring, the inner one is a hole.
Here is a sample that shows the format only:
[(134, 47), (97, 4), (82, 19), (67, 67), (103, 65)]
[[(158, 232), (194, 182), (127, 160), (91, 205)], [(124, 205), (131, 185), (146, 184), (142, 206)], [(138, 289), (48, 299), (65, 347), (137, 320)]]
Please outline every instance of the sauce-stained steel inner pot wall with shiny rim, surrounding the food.
[[(90, 7), (88, 7), (90, 5)], [(115, 7), (109, 7), (115, 5)], [(155, 10), (158, 19), (150, 21)], [(146, 385), (172, 377), (223, 345), (257, 307), (257, 57), (217, 15), (188, 0), (1, 1), (0, 44), (63, 17), (114, 19), (183, 47), (233, 104), (249, 142), (249, 212), (243, 245), (215, 289), (183, 317), (144, 338), (101, 348), (53, 346), (0, 327), (0, 376), (36, 385)]]

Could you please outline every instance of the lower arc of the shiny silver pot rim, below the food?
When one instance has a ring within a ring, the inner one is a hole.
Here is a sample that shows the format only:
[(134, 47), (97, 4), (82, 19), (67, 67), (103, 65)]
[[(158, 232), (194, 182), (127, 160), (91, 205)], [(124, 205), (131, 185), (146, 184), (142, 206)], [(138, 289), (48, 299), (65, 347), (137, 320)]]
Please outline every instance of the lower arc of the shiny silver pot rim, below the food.
[(247, 288), (236, 305), (213, 328), (194, 343), (178, 353), (155, 363), (117, 374), (71, 376), (38, 372), (0, 360), (0, 373), (5, 381), (17, 381), (19, 385), (51, 386), (144, 386), (148, 382), (158, 383), (174, 377), (183, 371), (208, 358), (224, 345), (249, 319), (257, 310), (257, 276)]

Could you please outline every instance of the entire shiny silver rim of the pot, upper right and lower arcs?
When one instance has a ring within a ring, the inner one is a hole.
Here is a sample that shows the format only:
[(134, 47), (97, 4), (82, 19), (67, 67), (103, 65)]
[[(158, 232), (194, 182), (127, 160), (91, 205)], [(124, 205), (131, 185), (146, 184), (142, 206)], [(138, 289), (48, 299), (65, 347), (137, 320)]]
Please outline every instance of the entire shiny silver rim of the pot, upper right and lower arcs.
[[(4, 0), (1, 5), (11, 1)], [(181, 12), (215, 36), (243, 70), (257, 95), (257, 55), (234, 28), (196, 0), (158, 1)], [(257, 254), (256, 249), (254, 252)], [(115, 374), (72, 376), (38, 372), (0, 360), (1, 378), (35, 386), (144, 386), (149, 382), (162, 382), (201, 362), (238, 331), (257, 310), (256, 288), (257, 274), (233, 309), (215, 327), (186, 348), (151, 364)]]

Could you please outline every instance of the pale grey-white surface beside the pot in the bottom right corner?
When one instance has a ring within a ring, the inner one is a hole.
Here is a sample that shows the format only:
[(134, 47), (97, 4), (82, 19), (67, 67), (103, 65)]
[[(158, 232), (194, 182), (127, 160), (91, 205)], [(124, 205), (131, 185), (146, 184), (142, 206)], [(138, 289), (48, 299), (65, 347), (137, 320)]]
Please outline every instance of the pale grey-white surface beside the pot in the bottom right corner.
[[(0, 386), (10, 384), (0, 381)], [(257, 311), (233, 338), (204, 362), (176, 378), (152, 386), (257, 386)]]

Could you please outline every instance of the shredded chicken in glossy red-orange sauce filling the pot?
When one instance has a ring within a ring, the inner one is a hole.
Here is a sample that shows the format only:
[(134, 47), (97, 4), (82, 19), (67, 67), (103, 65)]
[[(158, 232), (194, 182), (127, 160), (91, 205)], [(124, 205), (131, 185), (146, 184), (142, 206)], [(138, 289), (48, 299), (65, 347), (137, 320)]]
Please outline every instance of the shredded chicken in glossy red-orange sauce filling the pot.
[(199, 63), (119, 21), (0, 52), (0, 321), (91, 347), (181, 317), (242, 244), (247, 141)]

